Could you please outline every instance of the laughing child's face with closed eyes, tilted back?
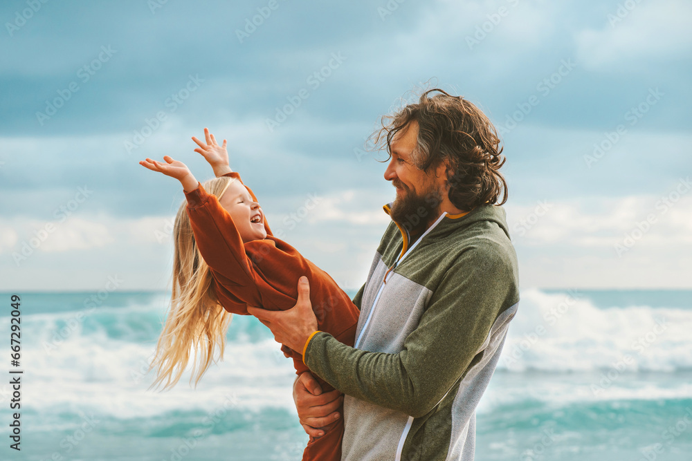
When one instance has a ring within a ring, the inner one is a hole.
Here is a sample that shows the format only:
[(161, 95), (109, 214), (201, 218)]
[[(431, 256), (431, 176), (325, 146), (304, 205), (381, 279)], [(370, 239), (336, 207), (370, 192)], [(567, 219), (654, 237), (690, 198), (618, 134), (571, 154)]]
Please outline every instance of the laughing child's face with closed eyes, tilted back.
[(240, 181), (230, 183), (224, 195), (219, 199), (243, 239), (243, 243), (266, 238), (264, 213), (260, 204), (255, 202), (250, 192)]

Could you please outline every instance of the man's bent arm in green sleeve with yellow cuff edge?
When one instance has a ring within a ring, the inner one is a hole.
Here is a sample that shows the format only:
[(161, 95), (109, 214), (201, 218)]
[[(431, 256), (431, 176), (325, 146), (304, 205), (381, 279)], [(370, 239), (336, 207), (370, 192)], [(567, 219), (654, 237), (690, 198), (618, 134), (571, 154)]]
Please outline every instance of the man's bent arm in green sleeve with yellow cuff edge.
[(358, 350), (318, 332), (305, 363), (345, 394), (426, 415), (468, 369), (500, 312), (518, 301), (509, 257), (476, 253), (464, 252), (445, 274), (401, 352)]

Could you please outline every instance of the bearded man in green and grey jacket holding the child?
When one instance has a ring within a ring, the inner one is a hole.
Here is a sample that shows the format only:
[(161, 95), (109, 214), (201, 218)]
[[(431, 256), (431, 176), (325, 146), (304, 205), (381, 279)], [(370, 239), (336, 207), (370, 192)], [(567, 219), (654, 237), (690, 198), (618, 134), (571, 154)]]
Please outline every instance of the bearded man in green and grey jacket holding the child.
[[(397, 198), (354, 298), (354, 347), (316, 331), (304, 277), (293, 309), (248, 312), (345, 394), (343, 460), (470, 461), (475, 408), (519, 301), (500, 140), (476, 106), (439, 89), (388, 118), (376, 144), (386, 142)], [(312, 395), (314, 384), (304, 373), (294, 388), (311, 435), (329, 430), (340, 402)]]

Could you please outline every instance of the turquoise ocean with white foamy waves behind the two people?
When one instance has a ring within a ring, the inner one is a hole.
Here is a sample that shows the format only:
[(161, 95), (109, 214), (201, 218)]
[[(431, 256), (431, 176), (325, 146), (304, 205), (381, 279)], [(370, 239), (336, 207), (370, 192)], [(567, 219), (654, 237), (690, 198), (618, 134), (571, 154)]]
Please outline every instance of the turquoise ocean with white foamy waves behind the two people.
[[(147, 390), (165, 292), (18, 293), (21, 364), (0, 385), (2, 460), (300, 460), (295, 372), (254, 317), (197, 388)], [(353, 295), (353, 293), (351, 293)], [(476, 459), (692, 460), (692, 290), (521, 292), (477, 408)], [(10, 449), (21, 369), (21, 451)]]

